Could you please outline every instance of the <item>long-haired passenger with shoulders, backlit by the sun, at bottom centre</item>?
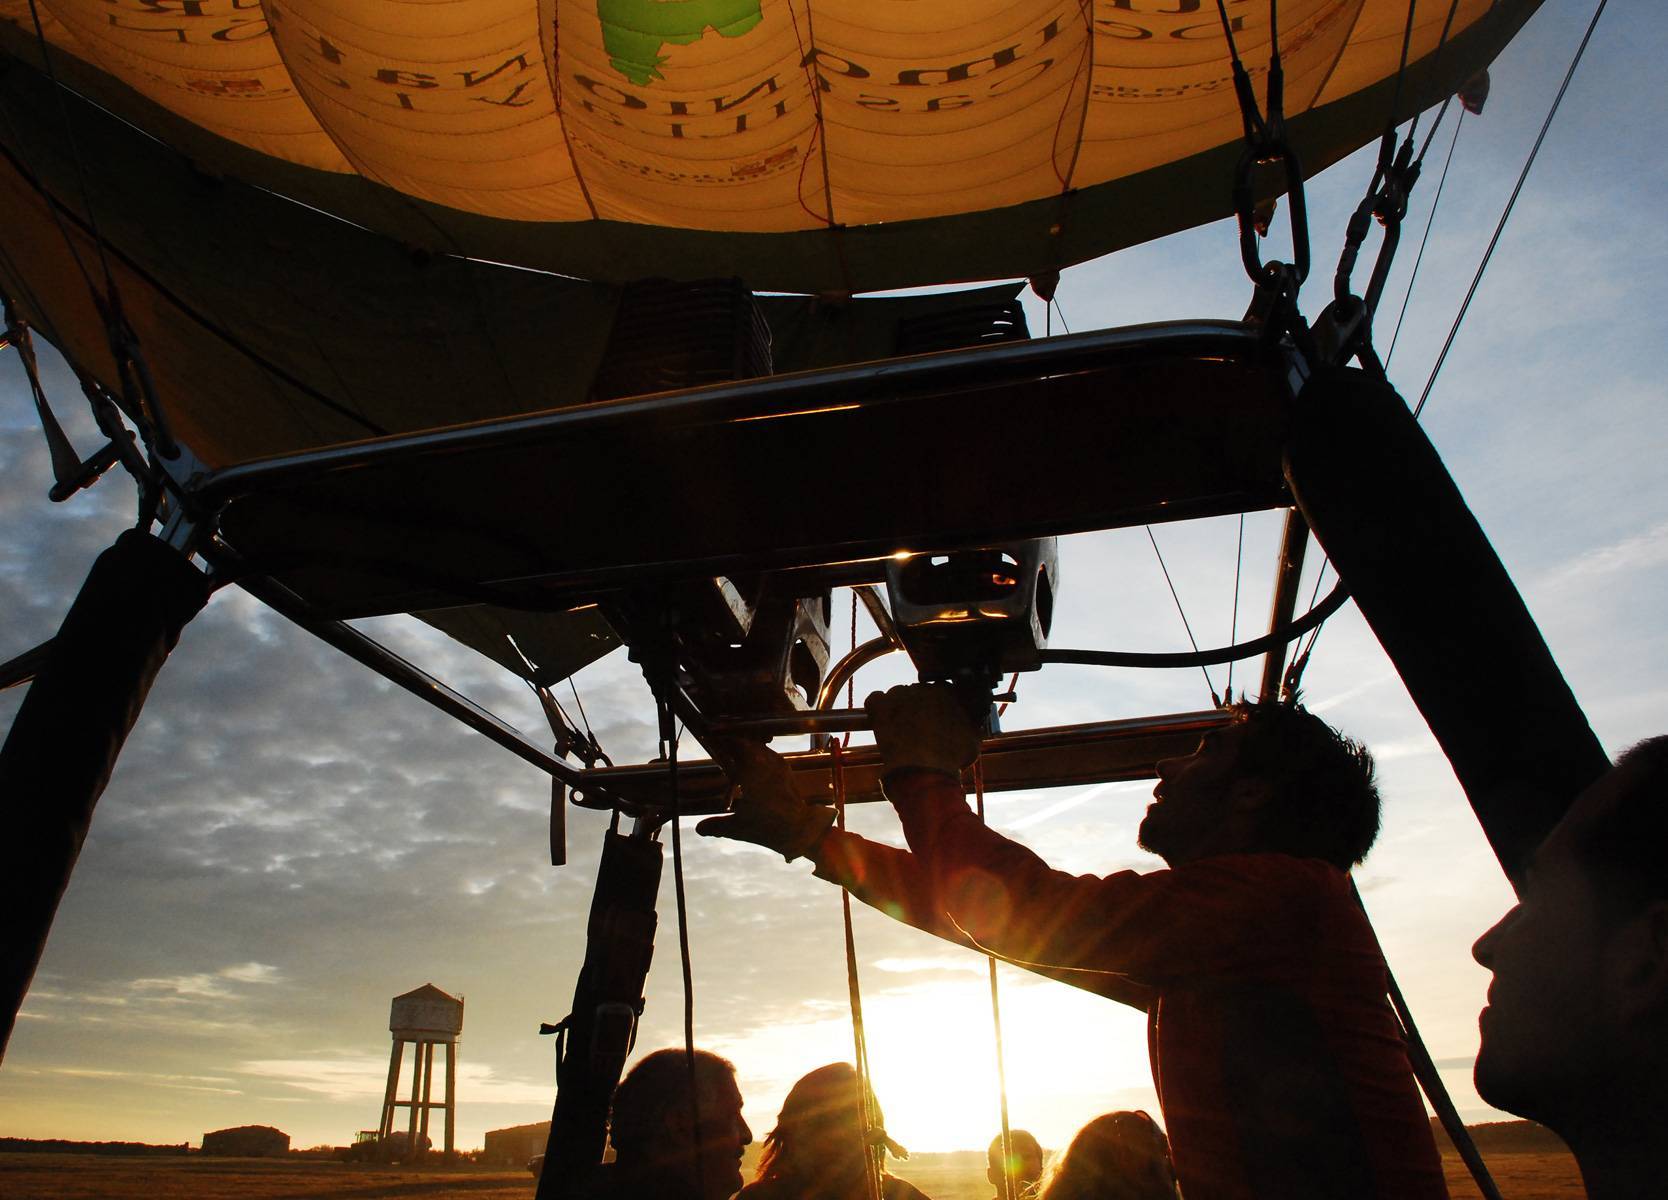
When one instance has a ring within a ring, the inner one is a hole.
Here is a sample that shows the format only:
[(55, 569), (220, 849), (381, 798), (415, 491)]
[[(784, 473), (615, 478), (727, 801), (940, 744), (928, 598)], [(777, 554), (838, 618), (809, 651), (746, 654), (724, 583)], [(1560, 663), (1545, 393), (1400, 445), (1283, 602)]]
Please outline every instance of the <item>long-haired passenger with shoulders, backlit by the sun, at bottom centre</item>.
[[(864, 1102), (872, 1113), (864, 1135)], [(764, 1140), (764, 1155), (744, 1200), (867, 1200), (869, 1172), (879, 1173), (882, 1200), (927, 1200), (906, 1180), (887, 1175), (884, 1153), (904, 1150), (886, 1137), (881, 1105), (851, 1063), (829, 1063), (801, 1078)]]

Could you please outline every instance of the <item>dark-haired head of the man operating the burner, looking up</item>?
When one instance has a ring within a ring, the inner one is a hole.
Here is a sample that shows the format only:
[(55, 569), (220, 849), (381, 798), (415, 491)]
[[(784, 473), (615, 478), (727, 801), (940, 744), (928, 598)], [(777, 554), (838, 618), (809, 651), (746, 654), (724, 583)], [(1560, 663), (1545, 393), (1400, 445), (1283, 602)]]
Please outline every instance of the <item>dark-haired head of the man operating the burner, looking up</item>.
[(1158, 764), (1143, 848), (1169, 863), (1279, 853), (1348, 871), (1378, 836), (1373, 756), (1299, 704), (1239, 703), (1233, 724)]

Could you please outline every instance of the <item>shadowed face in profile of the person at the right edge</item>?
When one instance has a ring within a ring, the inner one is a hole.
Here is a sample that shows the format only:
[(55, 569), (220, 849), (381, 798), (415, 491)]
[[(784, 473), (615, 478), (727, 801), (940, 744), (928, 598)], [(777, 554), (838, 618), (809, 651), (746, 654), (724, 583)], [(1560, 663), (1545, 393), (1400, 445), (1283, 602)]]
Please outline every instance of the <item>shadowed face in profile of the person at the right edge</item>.
[(1471, 948), (1493, 971), (1478, 1016), (1476, 1090), (1496, 1108), (1553, 1123), (1580, 1103), (1603, 1058), (1606, 923), (1576, 838), (1615, 798), (1615, 771), (1588, 788), (1525, 873), (1520, 901)]

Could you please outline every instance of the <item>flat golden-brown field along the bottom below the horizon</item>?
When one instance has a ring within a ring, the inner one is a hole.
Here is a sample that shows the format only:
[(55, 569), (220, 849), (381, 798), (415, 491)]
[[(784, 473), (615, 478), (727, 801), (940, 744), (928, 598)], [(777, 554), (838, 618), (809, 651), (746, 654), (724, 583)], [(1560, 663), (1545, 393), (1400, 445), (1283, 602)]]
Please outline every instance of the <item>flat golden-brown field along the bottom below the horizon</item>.
[[(989, 1200), (979, 1155), (922, 1155), (897, 1173), (932, 1200)], [(1444, 1155), (1454, 1200), (1480, 1193), (1454, 1155)], [(1586, 1193), (1561, 1152), (1490, 1157), (1508, 1200), (1578, 1200)], [(0, 1155), (0, 1200), (530, 1200), (527, 1172), (479, 1167), (367, 1167), (269, 1158), (120, 1158)]]

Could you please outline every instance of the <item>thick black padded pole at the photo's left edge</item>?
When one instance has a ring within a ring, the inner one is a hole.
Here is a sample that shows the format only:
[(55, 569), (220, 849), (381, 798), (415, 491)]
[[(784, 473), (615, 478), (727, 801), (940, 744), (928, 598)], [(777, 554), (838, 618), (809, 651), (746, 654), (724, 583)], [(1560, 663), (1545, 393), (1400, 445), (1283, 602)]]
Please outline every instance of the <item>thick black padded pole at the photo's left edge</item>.
[(93, 562), (23, 696), (0, 749), (0, 1056), (122, 743), (207, 601), (188, 559), (127, 531)]

